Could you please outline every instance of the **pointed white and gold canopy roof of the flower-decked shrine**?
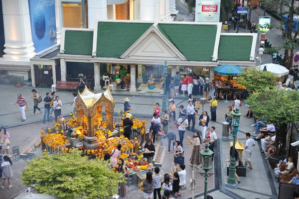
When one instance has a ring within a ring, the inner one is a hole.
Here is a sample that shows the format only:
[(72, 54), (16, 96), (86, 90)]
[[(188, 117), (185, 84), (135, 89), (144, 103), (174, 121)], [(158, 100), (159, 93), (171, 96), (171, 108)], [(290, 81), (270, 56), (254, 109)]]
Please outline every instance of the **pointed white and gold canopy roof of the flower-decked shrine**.
[(85, 86), (84, 91), (81, 94), (79, 92), (79, 95), (83, 100), (84, 104), (86, 105), (86, 107), (88, 108), (92, 108), (92, 106), (103, 97), (107, 98), (108, 100), (111, 101), (111, 103), (113, 103), (113, 98), (110, 93), (109, 87), (105, 92), (95, 94)]

